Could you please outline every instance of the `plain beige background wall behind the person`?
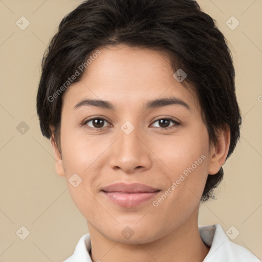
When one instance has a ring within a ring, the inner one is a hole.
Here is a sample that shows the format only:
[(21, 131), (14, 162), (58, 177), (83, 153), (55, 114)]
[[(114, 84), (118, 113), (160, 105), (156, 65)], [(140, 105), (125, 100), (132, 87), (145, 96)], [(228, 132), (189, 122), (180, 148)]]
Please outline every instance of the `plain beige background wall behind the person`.
[[(198, 2), (230, 42), (243, 114), (241, 142), (224, 165), (217, 200), (202, 205), (199, 224), (219, 223), (225, 231), (234, 226), (229, 232), (240, 234), (233, 242), (261, 259), (262, 1)], [(88, 233), (64, 178), (55, 173), (53, 152), (40, 133), (35, 108), (43, 51), (62, 17), (79, 3), (0, 1), (0, 262), (62, 261)], [(25, 30), (16, 25), (21, 16), (30, 21)], [(240, 22), (234, 30), (226, 25), (231, 16)], [(22, 121), (29, 126), (25, 134), (16, 128)], [(21, 226), (30, 231), (25, 240), (18, 237), (26, 232)]]

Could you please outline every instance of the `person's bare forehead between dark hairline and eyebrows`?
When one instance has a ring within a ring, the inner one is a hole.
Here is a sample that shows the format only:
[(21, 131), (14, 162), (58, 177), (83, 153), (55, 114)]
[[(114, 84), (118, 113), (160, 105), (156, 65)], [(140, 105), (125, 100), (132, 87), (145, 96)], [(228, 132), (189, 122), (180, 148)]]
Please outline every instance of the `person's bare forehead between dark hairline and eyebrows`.
[(199, 107), (195, 92), (174, 78), (167, 53), (125, 45), (99, 50), (82, 79), (65, 92), (63, 104), (75, 106), (82, 99), (100, 99), (116, 108), (142, 107), (149, 100), (177, 97), (190, 107)]

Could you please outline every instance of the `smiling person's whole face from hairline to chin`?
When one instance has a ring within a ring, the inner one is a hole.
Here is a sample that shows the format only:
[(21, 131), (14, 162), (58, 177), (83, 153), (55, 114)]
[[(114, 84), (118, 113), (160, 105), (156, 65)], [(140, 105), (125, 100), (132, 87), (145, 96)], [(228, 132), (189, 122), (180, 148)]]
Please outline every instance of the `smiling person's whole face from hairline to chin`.
[(57, 172), (102, 235), (151, 242), (192, 216), (221, 163), (197, 96), (173, 77), (165, 53), (124, 45), (100, 51), (63, 95)]

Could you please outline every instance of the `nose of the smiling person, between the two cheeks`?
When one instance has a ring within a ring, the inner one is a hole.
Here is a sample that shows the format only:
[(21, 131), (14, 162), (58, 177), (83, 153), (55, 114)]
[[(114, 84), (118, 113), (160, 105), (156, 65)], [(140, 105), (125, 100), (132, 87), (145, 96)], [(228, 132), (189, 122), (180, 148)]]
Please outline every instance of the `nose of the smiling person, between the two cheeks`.
[(148, 139), (143, 139), (135, 128), (130, 134), (121, 129), (119, 137), (111, 147), (110, 167), (125, 173), (135, 173), (151, 167), (151, 151)]

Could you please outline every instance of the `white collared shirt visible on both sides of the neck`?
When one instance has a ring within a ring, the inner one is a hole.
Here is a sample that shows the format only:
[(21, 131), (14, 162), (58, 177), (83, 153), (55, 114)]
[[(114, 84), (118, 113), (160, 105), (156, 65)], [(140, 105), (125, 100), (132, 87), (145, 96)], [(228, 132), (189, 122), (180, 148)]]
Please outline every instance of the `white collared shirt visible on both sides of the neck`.
[[(203, 262), (261, 262), (244, 247), (229, 240), (219, 224), (199, 227), (202, 241), (210, 247)], [(83, 235), (73, 255), (63, 262), (92, 262), (90, 234)]]

